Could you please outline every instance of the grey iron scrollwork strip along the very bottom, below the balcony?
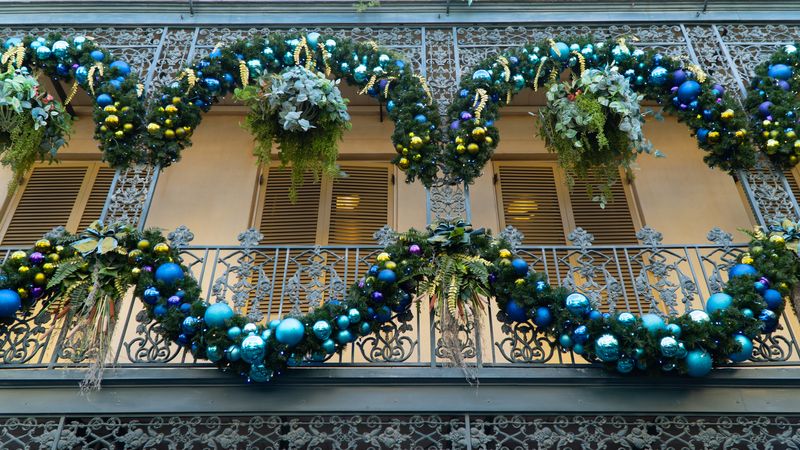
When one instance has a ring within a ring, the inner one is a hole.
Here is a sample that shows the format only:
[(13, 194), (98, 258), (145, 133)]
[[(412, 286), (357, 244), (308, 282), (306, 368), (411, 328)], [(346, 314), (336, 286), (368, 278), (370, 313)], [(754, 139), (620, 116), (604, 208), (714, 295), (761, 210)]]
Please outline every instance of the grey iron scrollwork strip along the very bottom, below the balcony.
[(795, 448), (796, 416), (309, 415), (30, 417), (0, 420), (16, 449)]

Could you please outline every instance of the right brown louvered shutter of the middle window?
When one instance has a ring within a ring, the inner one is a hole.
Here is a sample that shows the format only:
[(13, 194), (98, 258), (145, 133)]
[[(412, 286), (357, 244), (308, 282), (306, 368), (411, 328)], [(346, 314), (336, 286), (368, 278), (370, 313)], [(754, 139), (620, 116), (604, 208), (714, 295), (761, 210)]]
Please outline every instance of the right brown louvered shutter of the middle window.
[(389, 166), (342, 166), (347, 177), (333, 180), (328, 244), (370, 245), (389, 223)]

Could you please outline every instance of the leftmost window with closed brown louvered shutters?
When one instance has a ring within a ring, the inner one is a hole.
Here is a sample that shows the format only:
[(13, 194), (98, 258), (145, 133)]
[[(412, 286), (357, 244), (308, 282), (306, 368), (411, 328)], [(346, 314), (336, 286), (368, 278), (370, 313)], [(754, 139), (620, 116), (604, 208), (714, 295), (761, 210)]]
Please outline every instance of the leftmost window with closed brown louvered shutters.
[(0, 245), (30, 246), (56, 226), (79, 232), (100, 218), (114, 170), (100, 162), (37, 165), (0, 220)]

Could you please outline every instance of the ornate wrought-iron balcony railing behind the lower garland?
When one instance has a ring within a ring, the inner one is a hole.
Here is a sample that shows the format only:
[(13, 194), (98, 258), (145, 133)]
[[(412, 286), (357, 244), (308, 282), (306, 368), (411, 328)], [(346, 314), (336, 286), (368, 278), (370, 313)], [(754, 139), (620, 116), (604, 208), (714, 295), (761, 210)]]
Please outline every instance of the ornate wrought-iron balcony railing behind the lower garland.
[[(717, 292), (743, 246), (715, 229), (705, 245), (663, 245), (660, 233), (645, 228), (637, 235), (641, 245), (593, 246), (591, 235), (576, 230), (572, 246), (520, 246), (517, 250), (552, 284), (588, 295), (604, 312), (659, 310), (682, 314), (703, 308), (704, 299)], [(184, 263), (203, 288), (209, 302), (225, 299), (254, 322), (269, 321), (292, 312), (307, 311), (330, 298), (342, 298), (346, 288), (369, 268), (380, 251), (374, 247), (184, 246)], [(2, 249), (7, 257), (13, 249)], [(57, 370), (91, 363), (76, 353), (74, 332), (57, 310), (32, 311), (11, 325), (0, 325), (0, 369)], [(580, 356), (560, 350), (529, 324), (505, 324), (492, 301), (485, 305), (480, 328), (460, 333), (465, 359), (478, 367), (571, 367), (588, 364)], [(794, 366), (798, 357), (797, 331), (792, 308), (786, 308), (779, 329), (755, 342), (749, 366)], [(436, 367), (446, 364), (436, 318), (427, 302), (412, 307), (384, 324), (377, 334), (361, 337), (327, 367)], [(145, 315), (138, 300), (126, 298), (112, 339), (109, 363), (118, 368), (210, 366), (191, 353), (165, 341), (158, 324)], [(2, 377), (2, 370), (0, 370)]]

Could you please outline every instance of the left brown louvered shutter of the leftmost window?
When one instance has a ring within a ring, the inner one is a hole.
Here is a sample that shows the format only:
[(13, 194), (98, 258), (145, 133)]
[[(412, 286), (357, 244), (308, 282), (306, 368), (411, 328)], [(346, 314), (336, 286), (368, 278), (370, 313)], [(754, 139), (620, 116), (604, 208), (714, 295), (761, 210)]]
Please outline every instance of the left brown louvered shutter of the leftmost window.
[(53, 227), (67, 226), (87, 170), (87, 166), (34, 168), (19, 187), (19, 201), (11, 205), (12, 216), (1, 244), (27, 247)]

